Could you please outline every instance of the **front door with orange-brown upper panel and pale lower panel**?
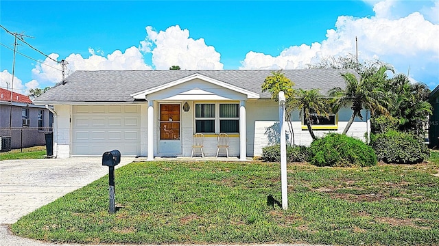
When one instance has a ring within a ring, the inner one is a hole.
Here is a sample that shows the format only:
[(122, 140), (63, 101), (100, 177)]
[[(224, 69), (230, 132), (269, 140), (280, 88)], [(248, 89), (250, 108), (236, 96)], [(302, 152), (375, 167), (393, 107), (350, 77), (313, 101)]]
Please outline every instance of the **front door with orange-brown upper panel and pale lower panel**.
[(158, 154), (181, 154), (180, 104), (160, 104)]

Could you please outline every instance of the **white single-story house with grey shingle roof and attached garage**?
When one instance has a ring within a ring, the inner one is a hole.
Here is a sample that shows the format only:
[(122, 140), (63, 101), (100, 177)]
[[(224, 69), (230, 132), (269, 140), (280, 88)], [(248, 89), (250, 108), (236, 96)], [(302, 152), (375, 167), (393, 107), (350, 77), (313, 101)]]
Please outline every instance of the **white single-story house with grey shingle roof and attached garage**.
[[(215, 156), (217, 134), (230, 136), (229, 154), (261, 156), (278, 132), (278, 103), (261, 85), (272, 70), (76, 71), (38, 97), (54, 105), (54, 155), (191, 156), (193, 134), (204, 133), (204, 154)], [(344, 87), (340, 76), (354, 70), (283, 70), (302, 89)], [(341, 133), (351, 116), (342, 109), (320, 118), (316, 135)], [(366, 112), (362, 112), (366, 115)], [(298, 111), (292, 115), (296, 145), (312, 139)], [(348, 135), (364, 139), (366, 118)]]

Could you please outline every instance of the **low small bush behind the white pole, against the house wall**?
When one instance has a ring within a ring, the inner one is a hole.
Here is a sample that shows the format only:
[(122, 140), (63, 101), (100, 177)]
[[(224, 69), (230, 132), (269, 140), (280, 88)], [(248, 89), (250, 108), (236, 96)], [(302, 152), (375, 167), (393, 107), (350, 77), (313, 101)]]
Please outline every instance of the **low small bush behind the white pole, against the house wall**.
[[(281, 145), (267, 146), (262, 149), (263, 161), (280, 162)], [(308, 148), (306, 146), (287, 146), (287, 162), (304, 162), (308, 159)]]

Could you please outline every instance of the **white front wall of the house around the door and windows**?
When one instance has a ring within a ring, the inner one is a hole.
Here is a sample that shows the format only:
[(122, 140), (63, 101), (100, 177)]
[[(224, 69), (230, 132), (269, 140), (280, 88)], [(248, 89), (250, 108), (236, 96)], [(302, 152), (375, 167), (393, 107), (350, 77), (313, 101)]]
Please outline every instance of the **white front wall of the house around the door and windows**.
[[(223, 94), (224, 95), (224, 94)], [(154, 122), (158, 122), (159, 103), (179, 103), (183, 105), (188, 102), (191, 109), (188, 112), (181, 111), (181, 155), (190, 156), (192, 151), (194, 134), (194, 107), (195, 102), (209, 102), (206, 100), (158, 100), (154, 102)], [(215, 100), (210, 102), (216, 102)], [(222, 100), (222, 102), (239, 103), (237, 100)], [(54, 155), (57, 158), (68, 158), (71, 156), (71, 105), (55, 105), (54, 111), (58, 115), (54, 118)], [(343, 109), (338, 113), (338, 128), (336, 131), (314, 131), (321, 137), (330, 132), (342, 133), (347, 121), (351, 117), (351, 109)], [(366, 112), (362, 112), (364, 120), (355, 119), (348, 136), (364, 140), (367, 131)], [(294, 119), (294, 141), (296, 145), (309, 146), (312, 139), (307, 129), (302, 129), (302, 121), (298, 111), (293, 113)], [(147, 156), (147, 103), (140, 105), (140, 156)], [(270, 143), (268, 128), (278, 122), (278, 104), (270, 99), (247, 100), (246, 101), (246, 155), (261, 156), (262, 148)], [(278, 131), (278, 130), (276, 130)], [(154, 124), (154, 156), (158, 156), (158, 124)], [(229, 155), (239, 156), (239, 134), (231, 135), (229, 138)], [(206, 135), (204, 138), (204, 154), (215, 156), (217, 151), (217, 135)]]

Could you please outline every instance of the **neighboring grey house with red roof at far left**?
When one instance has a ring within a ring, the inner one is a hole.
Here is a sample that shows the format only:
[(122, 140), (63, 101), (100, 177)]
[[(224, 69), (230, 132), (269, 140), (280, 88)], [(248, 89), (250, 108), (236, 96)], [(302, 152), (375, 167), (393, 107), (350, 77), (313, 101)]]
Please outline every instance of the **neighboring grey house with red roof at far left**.
[(52, 122), (50, 111), (29, 96), (14, 92), (11, 105), (11, 91), (0, 88), (0, 136), (11, 137), (10, 148), (44, 145)]

